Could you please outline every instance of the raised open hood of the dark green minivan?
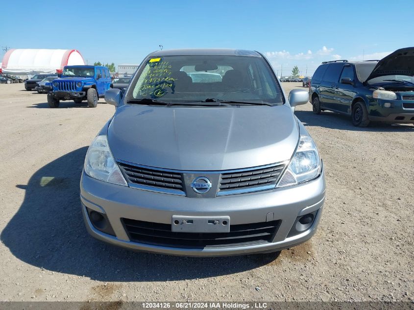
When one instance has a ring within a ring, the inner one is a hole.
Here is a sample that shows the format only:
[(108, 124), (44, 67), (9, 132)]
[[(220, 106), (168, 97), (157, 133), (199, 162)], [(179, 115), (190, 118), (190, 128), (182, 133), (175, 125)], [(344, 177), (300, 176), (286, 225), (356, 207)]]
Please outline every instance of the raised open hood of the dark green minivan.
[(414, 75), (414, 47), (400, 48), (381, 59), (368, 78), (384, 75)]

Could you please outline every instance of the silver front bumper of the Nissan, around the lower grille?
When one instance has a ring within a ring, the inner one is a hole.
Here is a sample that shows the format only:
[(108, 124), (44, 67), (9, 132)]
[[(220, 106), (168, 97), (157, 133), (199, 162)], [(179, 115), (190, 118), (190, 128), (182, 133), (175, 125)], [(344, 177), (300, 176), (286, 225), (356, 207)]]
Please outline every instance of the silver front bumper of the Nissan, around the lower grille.
[[(308, 183), (254, 193), (189, 198), (109, 184), (82, 173), (80, 200), (88, 232), (95, 238), (131, 250), (184, 256), (229, 256), (279, 251), (310, 239), (317, 230), (325, 199), (325, 178)], [(92, 224), (87, 209), (105, 214), (116, 236), (102, 233)], [(306, 231), (288, 237), (298, 216), (316, 212)], [(269, 214), (271, 218), (269, 218)], [(229, 216), (230, 225), (280, 220), (271, 242), (237, 246), (189, 248), (131, 241), (121, 218), (171, 224), (173, 215)]]

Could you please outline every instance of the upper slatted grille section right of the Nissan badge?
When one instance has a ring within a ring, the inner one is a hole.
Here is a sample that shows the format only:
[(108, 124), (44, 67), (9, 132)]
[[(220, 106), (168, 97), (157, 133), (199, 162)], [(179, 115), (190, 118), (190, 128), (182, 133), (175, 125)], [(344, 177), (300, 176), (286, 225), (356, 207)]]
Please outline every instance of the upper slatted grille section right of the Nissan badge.
[(248, 190), (262, 186), (276, 185), (285, 165), (276, 165), (262, 169), (241, 172), (222, 173), (219, 191)]

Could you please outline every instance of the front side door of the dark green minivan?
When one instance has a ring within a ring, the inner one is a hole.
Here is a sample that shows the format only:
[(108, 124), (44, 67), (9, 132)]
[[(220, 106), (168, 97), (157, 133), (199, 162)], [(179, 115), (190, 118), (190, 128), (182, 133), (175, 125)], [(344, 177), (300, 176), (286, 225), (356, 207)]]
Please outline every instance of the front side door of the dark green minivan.
[(338, 110), (340, 112), (351, 113), (351, 102), (355, 94), (354, 66), (347, 64), (343, 66), (339, 83), (335, 90), (335, 101), (338, 102)]

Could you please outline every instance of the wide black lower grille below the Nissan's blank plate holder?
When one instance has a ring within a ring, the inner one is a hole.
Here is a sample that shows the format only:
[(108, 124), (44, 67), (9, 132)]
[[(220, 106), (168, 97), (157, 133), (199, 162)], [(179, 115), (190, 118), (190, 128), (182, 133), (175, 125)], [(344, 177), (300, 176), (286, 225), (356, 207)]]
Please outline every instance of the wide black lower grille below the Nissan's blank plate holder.
[(280, 220), (230, 225), (229, 233), (171, 232), (171, 224), (121, 218), (128, 237), (133, 242), (171, 247), (205, 248), (237, 246), (271, 242)]

